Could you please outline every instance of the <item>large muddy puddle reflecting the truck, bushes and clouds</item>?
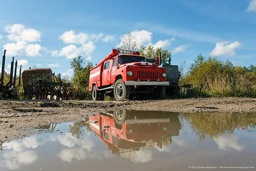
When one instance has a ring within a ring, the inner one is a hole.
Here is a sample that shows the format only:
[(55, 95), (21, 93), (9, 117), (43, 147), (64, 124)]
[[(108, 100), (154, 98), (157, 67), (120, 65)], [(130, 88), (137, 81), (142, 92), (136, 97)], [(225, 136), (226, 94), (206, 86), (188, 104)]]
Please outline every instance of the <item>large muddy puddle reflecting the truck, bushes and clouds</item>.
[(4, 142), (0, 170), (256, 170), (256, 114), (109, 111)]

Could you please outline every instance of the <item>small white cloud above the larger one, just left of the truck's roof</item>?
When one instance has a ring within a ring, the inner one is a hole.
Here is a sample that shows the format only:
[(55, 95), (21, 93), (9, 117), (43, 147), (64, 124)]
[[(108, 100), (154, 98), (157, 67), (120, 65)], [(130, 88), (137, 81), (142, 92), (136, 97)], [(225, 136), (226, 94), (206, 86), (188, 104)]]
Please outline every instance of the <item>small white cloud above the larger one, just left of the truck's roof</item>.
[(88, 40), (88, 34), (80, 32), (79, 34), (75, 34), (71, 29), (70, 31), (64, 32), (60, 36), (60, 40), (63, 40), (65, 44), (83, 44)]

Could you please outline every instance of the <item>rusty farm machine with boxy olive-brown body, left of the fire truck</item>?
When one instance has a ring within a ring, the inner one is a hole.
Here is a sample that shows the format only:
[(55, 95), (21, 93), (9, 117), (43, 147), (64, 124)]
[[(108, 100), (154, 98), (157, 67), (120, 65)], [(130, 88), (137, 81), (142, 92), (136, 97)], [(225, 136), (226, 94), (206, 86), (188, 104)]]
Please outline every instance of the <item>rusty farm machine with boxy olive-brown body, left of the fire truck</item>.
[(35, 68), (22, 72), (24, 96), (28, 98), (68, 100), (70, 83), (63, 83), (52, 73), (51, 68)]

